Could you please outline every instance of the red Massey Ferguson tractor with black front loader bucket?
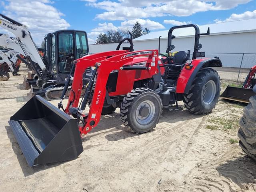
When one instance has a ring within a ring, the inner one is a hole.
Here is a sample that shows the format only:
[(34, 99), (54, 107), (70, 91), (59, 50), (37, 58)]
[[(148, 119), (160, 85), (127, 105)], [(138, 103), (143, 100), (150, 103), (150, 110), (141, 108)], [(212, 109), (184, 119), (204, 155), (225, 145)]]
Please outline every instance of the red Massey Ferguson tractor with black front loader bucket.
[[(170, 56), (172, 31), (193, 27), (195, 44), (190, 51)], [(168, 57), (158, 50), (102, 52), (84, 56), (72, 66), (58, 108), (34, 96), (14, 116), (9, 124), (30, 166), (72, 160), (83, 151), (80, 139), (100, 121), (101, 114), (120, 108), (121, 121), (134, 133), (152, 130), (158, 124), (162, 108), (183, 100), (194, 114), (208, 114), (218, 102), (220, 78), (212, 67), (221, 67), (217, 58), (201, 58), (198, 52), (199, 28), (189, 24), (175, 26), (168, 33)], [(120, 47), (120, 46), (118, 46)], [(197, 59), (200, 57), (200, 59)], [(74, 72), (68, 104), (62, 100)], [(80, 95), (84, 92), (81, 102)], [(86, 105), (89, 112), (84, 114)], [(28, 113), (30, 112), (30, 113)]]

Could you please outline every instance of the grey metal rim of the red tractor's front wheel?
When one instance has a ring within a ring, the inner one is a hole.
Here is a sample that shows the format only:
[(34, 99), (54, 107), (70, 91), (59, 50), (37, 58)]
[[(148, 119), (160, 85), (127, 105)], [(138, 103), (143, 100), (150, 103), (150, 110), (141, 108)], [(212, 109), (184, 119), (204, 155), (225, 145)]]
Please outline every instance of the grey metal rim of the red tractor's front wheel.
[[(146, 110), (144, 110), (146, 109)], [(142, 113), (142, 110), (146, 111), (147, 114)], [(152, 121), (156, 113), (154, 103), (150, 100), (141, 102), (136, 109), (136, 121), (141, 125), (146, 125)]]

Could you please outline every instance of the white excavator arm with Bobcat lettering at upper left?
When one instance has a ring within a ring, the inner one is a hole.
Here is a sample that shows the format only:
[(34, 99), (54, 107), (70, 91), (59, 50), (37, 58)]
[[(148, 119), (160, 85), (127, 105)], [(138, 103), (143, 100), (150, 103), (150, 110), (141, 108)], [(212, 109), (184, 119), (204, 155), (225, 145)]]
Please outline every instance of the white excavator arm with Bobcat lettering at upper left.
[[(24, 52), (29, 52), (34, 57), (33, 61), (36, 62), (42, 70), (46, 69), (27, 26), (22, 25), (2, 14), (0, 14), (0, 26), (14, 34)], [(23, 44), (26, 45), (27, 49), (22, 46)], [(24, 56), (28, 55), (25, 54)]]

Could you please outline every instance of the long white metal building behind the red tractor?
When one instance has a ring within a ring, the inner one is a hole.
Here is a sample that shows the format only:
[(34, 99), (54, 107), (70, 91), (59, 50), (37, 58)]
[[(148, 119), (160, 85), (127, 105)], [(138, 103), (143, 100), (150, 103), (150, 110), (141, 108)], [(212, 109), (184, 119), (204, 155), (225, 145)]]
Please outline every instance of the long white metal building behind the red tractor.
[[(200, 37), (202, 44), (200, 51), (205, 51), (207, 57), (216, 55), (222, 59), (224, 66), (239, 67), (242, 54), (238, 53), (256, 54), (256, 19), (202, 25), (199, 26), (200, 32), (206, 33), (208, 27), (210, 27), (210, 35)], [(175, 46), (173, 51), (191, 50), (191, 53), (193, 52), (194, 28), (176, 29), (173, 35), (176, 36), (172, 42)], [(151, 32), (134, 39), (134, 50), (158, 49), (159, 36), (162, 36), (160, 52), (165, 52), (168, 30)], [(116, 46), (117, 44), (90, 45), (89, 49), (90, 53), (97, 53), (115, 50)], [(124, 46), (129, 46), (129, 44), (124, 44)], [(248, 57), (253, 57), (248, 60), (254, 60), (253, 54), (248, 55)]]

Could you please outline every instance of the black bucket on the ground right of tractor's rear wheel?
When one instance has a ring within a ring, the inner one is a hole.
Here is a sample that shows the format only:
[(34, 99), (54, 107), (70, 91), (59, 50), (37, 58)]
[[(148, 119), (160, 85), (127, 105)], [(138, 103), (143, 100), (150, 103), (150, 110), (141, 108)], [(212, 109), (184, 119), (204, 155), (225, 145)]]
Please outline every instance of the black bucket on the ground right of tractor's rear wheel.
[(220, 98), (249, 103), (249, 98), (254, 96), (252, 89), (228, 86), (220, 95)]

